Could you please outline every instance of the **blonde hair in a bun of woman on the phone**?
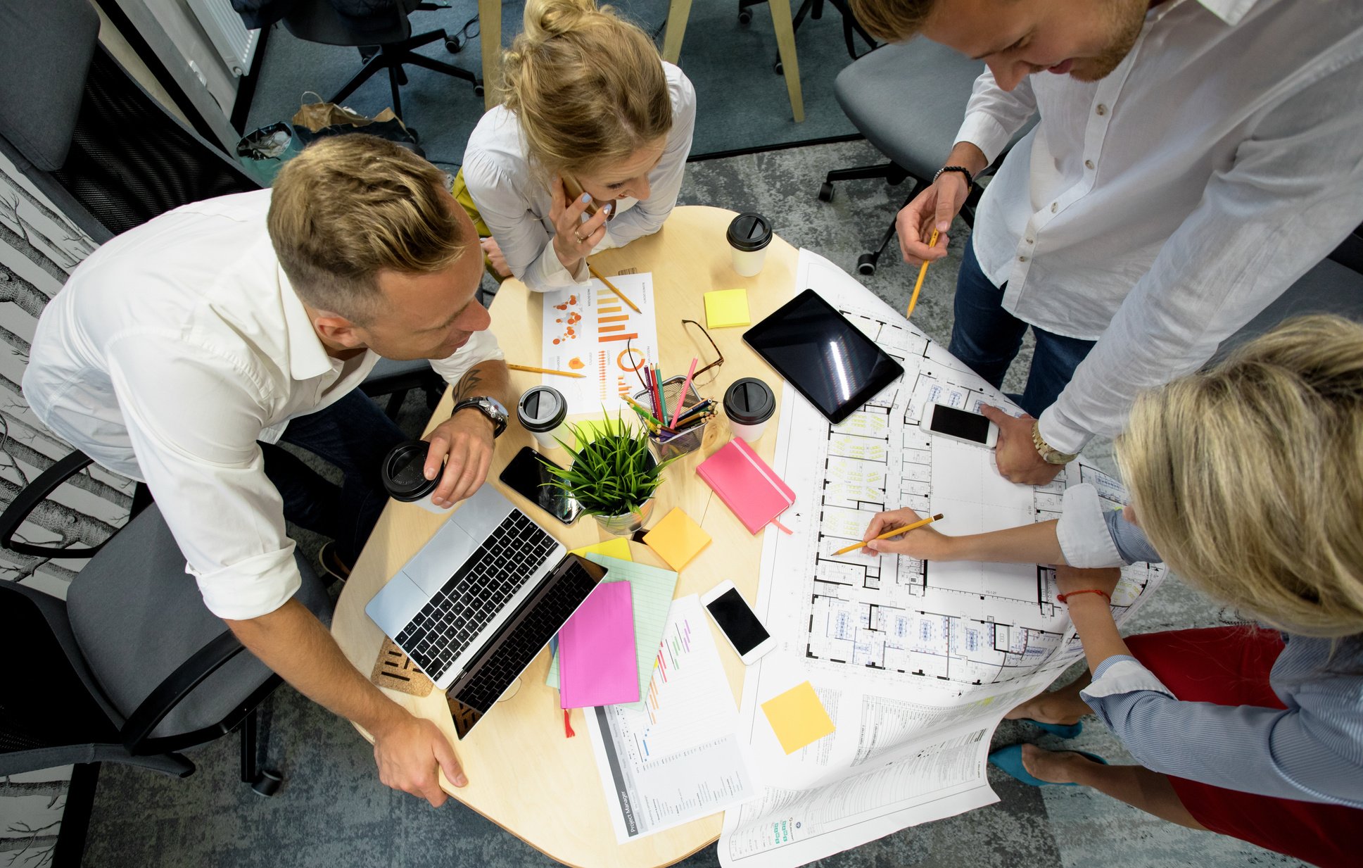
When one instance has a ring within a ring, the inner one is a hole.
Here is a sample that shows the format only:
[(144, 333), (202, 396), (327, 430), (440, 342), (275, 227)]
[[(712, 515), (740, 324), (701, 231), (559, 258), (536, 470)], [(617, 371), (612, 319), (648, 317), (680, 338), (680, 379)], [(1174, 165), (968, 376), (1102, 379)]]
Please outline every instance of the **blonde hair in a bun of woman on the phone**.
[(530, 0), (503, 69), (504, 105), (545, 174), (590, 173), (672, 129), (658, 49), (594, 0)]

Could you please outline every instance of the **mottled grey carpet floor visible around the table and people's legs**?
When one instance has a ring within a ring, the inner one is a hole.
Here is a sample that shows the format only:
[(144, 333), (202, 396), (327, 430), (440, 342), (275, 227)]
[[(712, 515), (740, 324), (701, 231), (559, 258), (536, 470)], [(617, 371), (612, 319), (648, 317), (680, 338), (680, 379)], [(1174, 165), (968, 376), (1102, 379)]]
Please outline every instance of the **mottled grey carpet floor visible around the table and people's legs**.
[[(863, 142), (691, 164), (684, 203), (755, 208), (777, 221), (796, 247), (808, 247), (846, 270), (871, 238), (878, 238), (905, 192), (876, 181), (840, 184), (833, 203), (814, 198), (831, 168), (875, 162)], [(951, 290), (965, 228), (951, 238), (953, 258), (928, 270), (915, 322), (945, 342), (951, 330)], [(915, 271), (894, 255), (864, 282), (902, 308)], [(1006, 387), (1021, 387), (1021, 358)], [(403, 422), (420, 429), (424, 409), (409, 399)], [(1097, 454), (1104, 455), (1097, 444)], [(1108, 458), (1101, 458), (1111, 469)], [(315, 540), (303, 540), (307, 548)], [(1137, 616), (1134, 632), (1231, 623), (1232, 612), (1176, 579)], [(1075, 672), (1069, 673), (1074, 677)], [(199, 771), (188, 779), (105, 766), (94, 804), (85, 865), (95, 868), (519, 868), (552, 865), (549, 858), (451, 801), (432, 809), (378, 781), (372, 751), (349, 724), (285, 687), (269, 702), (269, 756), (285, 773), (284, 788), (263, 800), (237, 781), (237, 745), (221, 739), (192, 752)], [(1097, 752), (1131, 762), (1105, 729), (1088, 721), (1070, 743), (1005, 722), (995, 744), (1036, 741)], [(517, 774), (506, 769), (504, 774)], [(818, 863), (822, 868), (1240, 868), (1300, 865), (1296, 860), (1210, 833), (1190, 831), (1144, 815), (1082, 788), (1030, 788), (990, 770), (999, 794), (995, 805), (908, 828)], [(544, 786), (564, 788), (562, 781)], [(600, 797), (596, 782), (578, 785), (581, 797)], [(706, 848), (683, 861), (687, 868), (717, 865)]]

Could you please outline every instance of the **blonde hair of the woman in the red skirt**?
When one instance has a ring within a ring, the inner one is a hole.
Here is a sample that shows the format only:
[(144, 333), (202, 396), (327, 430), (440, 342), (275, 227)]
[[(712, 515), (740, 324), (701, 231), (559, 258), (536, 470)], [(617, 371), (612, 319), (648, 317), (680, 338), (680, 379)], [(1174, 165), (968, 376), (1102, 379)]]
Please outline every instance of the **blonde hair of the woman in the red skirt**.
[(1363, 326), (1295, 319), (1145, 392), (1118, 461), (1190, 583), (1302, 635), (1363, 632)]

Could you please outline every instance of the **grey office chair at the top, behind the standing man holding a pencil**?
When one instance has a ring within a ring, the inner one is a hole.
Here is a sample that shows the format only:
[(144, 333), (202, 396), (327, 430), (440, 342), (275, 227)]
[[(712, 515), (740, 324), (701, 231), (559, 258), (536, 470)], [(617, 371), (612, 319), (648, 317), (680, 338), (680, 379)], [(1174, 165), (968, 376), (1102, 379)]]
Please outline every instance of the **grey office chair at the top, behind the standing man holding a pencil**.
[[(955, 131), (965, 117), (975, 79), (984, 64), (949, 48), (917, 38), (900, 45), (883, 45), (844, 67), (833, 86), (842, 112), (867, 142), (890, 162), (853, 169), (834, 169), (819, 187), (819, 199), (833, 200), (833, 183), (853, 179), (885, 179), (891, 185), (912, 180), (908, 204), (924, 187), (955, 144)], [(1029, 121), (1013, 136), (1011, 147), (1025, 136)], [(1007, 150), (1005, 150), (1005, 154)], [(999, 161), (1003, 155), (999, 155)], [(995, 161), (998, 165), (999, 161)], [(981, 173), (983, 174), (983, 173)], [(979, 187), (961, 208), (966, 225), (975, 223)], [(902, 207), (902, 206), (901, 206)], [(898, 214), (900, 208), (895, 208)], [(894, 217), (880, 244), (857, 258), (860, 274), (875, 274), (880, 253), (894, 238)]]

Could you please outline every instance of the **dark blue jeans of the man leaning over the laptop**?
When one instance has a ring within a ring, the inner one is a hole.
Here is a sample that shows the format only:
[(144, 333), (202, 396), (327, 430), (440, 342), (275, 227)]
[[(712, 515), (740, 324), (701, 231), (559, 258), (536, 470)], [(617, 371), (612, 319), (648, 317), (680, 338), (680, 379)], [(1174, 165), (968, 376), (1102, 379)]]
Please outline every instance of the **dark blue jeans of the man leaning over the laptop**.
[(281, 440), (335, 465), (339, 486), (323, 480), (296, 455), (262, 443), (264, 473), (284, 497), (284, 516), (337, 542), (337, 555), (353, 564), (379, 521), (388, 492), (379, 465), (408, 436), (358, 388), (324, 410), (289, 420)]

